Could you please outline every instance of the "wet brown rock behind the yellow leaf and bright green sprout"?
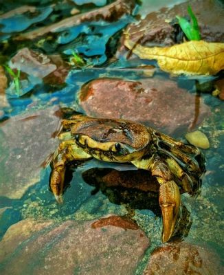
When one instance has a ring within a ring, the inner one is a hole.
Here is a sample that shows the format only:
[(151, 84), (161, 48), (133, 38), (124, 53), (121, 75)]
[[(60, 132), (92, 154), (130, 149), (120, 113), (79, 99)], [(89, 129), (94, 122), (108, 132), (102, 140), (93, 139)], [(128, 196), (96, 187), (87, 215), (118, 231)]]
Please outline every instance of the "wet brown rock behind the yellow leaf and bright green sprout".
[[(223, 42), (224, 8), (221, 1), (194, 0), (190, 2), (190, 5), (199, 23), (201, 39), (208, 42)], [(170, 24), (175, 21), (176, 15), (188, 16), (187, 1), (172, 8), (161, 8), (157, 12), (151, 12), (138, 24), (129, 25), (126, 32), (130, 34), (132, 41), (140, 44), (174, 45), (181, 43), (183, 39), (178, 36), (179, 31)], [(124, 47), (121, 47), (119, 52), (122, 50)]]

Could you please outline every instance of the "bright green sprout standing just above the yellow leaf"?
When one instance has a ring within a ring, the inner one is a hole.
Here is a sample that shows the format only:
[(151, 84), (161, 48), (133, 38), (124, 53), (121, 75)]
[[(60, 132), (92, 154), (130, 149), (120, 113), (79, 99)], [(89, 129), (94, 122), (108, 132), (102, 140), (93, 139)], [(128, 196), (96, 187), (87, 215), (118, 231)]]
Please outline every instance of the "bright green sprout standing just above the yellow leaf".
[(189, 40), (201, 40), (201, 34), (199, 30), (199, 25), (197, 22), (197, 18), (195, 17), (194, 13), (192, 12), (192, 8), (190, 5), (188, 5), (188, 14), (190, 15), (190, 19), (192, 20), (192, 23), (188, 22), (187, 19), (183, 17), (176, 16), (179, 25), (181, 26), (181, 29), (186, 34)]

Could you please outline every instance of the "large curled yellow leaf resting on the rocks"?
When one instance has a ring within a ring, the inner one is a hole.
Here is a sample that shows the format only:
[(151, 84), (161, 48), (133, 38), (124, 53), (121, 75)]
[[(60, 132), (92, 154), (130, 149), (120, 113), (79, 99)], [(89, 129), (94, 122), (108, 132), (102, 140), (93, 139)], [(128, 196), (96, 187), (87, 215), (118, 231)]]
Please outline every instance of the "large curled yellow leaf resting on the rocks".
[(127, 38), (124, 45), (142, 59), (155, 59), (173, 74), (217, 74), (224, 69), (224, 43), (190, 41), (171, 47), (144, 47)]

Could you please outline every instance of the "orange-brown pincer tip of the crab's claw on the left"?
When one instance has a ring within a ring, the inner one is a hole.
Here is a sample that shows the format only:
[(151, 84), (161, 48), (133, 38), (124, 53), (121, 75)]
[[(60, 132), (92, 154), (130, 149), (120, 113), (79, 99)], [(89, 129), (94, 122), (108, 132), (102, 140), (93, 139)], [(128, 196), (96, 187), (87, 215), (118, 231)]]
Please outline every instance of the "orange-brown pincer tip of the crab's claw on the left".
[(63, 203), (63, 188), (65, 181), (65, 166), (57, 166), (52, 169), (50, 188), (58, 203)]

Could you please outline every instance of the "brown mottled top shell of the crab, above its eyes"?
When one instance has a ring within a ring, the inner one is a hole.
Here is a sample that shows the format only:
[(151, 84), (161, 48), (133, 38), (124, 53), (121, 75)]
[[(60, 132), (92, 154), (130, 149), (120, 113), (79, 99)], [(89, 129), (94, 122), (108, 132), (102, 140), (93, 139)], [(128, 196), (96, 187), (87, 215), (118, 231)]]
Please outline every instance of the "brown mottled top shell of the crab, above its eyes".
[(107, 118), (82, 118), (71, 128), (71, 135), (87, 135), (96, 142), (121, 142), (136, 150), (150, 141), (146, 126), (128, 120)]

